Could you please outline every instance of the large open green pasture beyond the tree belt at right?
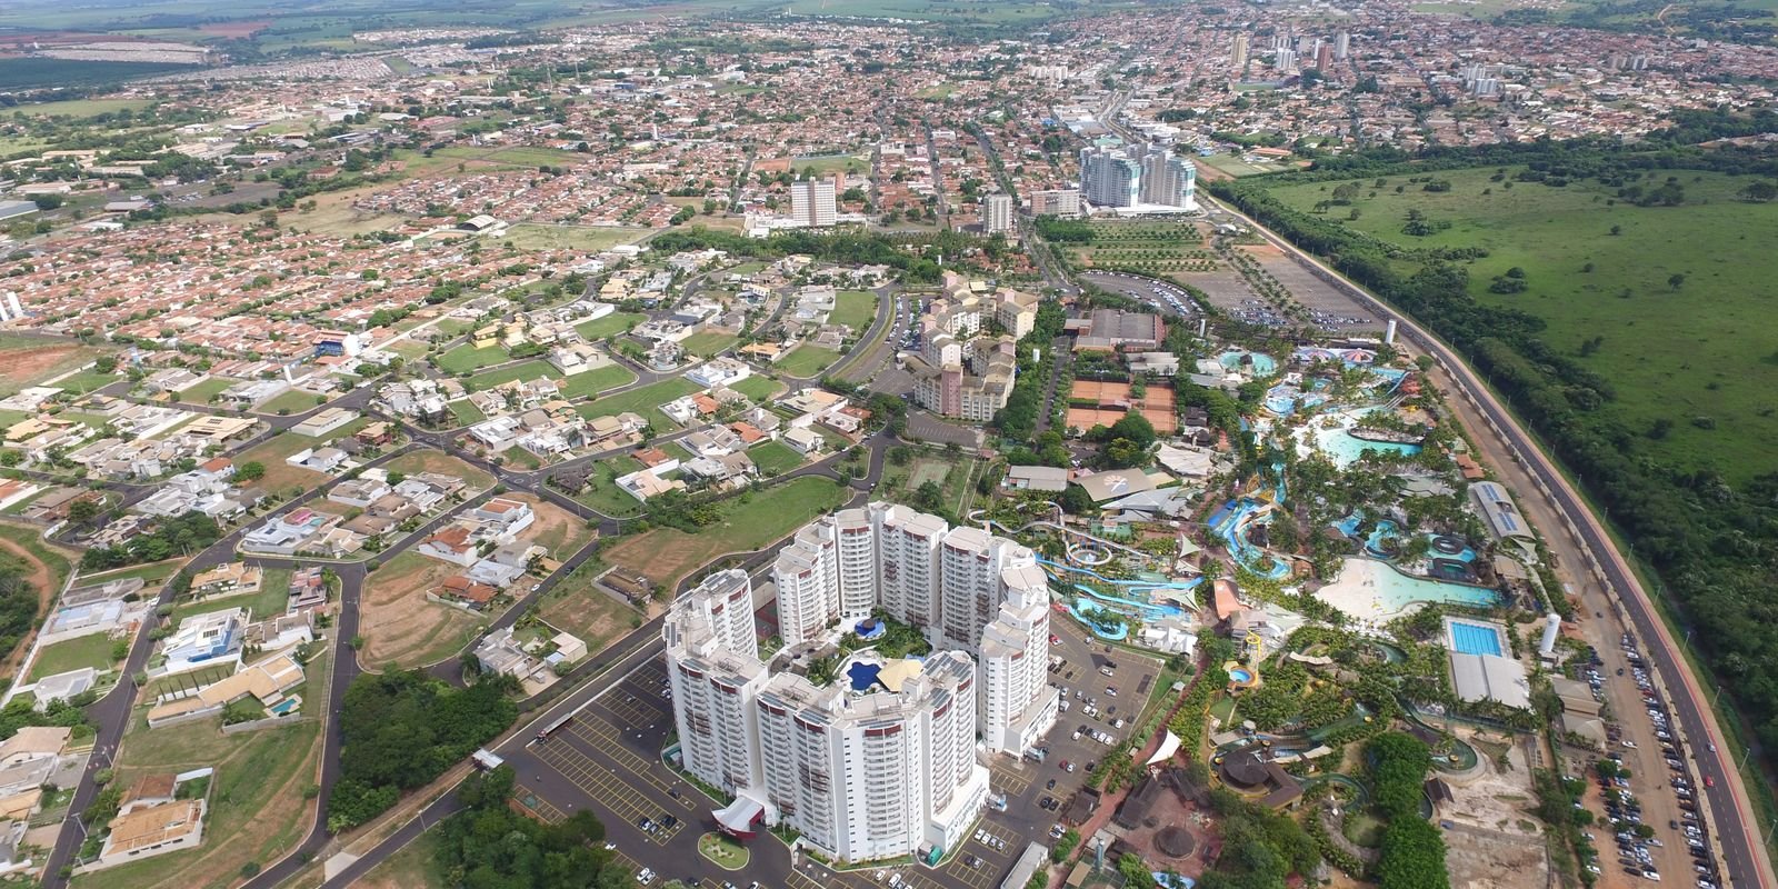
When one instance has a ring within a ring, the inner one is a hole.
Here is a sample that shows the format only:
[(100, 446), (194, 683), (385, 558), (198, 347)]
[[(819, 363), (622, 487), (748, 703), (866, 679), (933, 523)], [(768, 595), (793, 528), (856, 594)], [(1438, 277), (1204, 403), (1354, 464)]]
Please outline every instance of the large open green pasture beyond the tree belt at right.
[[(1490, 181), (1494, 172), (1438, 172), (1451, 190), (1437, 194), (1405, 178), (1383, 188), (1364, 180), (1353, 203), (1360, 217), (1346, 220), (1344, 206), (1328, 217), (1405, 247), (1486, 247), (1469, 263), (1474, 297), (1543, 318), (1543, 341), (1611, 380), (1616, 398), (1598, 412), (1638, 434), (1638, 453), (1716, 468), (1732, 484), (1778, 466), (1778, 352), (1767, 336), (1778, 204), (1737, 201), (1751, 178), (1710, 172), (1659, 171), (1645, 188), (1678, 176), (1686, 203), (1646, 208), (1613, 204), (1614, 190), (1597, 181), (1508, 188)], [(1275, 194), (1309, 210), (1337, 185)], [(1396, 185), (1406, 188), (1396, 194)], [(1408, 210), (1449, 228), (1405, 235)], [(1515, 267), (1529, 288), (1490, 293), (1494, 277)], [(1675, 274), (1684, 276), (1677, 290)], [(1673, 421), (1664, 439), (1643, 436), (1662, 418)]]

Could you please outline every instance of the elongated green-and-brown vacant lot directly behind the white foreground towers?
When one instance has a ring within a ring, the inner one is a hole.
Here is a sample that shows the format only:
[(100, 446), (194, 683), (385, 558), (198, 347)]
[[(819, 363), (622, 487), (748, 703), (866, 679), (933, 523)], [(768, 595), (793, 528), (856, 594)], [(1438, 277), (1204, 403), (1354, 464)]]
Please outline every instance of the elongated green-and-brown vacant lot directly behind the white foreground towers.
[(845, 503), (848, 491), (832, 478), (793, 478), (722, 503), (722, 519), (697, 533), (654, 528), (603, 551), (613, 565), (674, 589), (679, 580), (724, 553), (759, 549)]

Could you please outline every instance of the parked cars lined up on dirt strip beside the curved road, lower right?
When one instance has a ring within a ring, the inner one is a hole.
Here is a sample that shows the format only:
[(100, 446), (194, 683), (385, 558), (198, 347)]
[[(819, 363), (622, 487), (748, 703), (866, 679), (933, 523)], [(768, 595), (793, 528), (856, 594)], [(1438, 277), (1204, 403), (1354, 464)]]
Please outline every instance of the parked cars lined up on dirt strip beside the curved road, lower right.
[[(1716, 857), (1710, 853), (1710, 846), (1705, 837), (1703, 820), (1698, 816), (1696, 789), (1691, 786), (1691, 779), (1686, 775), (1686, 750), (1678, 740), (1673, 725), (1670, 722), (1668, 706), (1661, 699), (1661, 692), (1655, 690), (1654, 679), (1648, 674), (1648, 661), (1643, 660), (1641, 651), (1636, 645), (1636, 637), (1623, 633), (1620, 642), (1623, 645), (1625, 660), (1629, 660), (1629, 677), (1636, 681), (1636, 688), (1641, 692), (1643, 708), (1648, 715), (1650, 725), (1655, 729), (1655, 740), (1661, 741), (1661, 754), (1666, 766), (1673, 772), (1668, 784), (1673, 789), (1675, 802), (1680, 811), (1680, 818), (1670, 820), (1668, 829), (1677, 830), (1686, 837), (1686, 846), (1691, 852), (1693, 871), (1698, 882), (1698, 889), (1718, 889), (1718, 866)], [(1595, 653), (1591, 661), (1584, 669), (1588, 685), (1598, 693), (1604, 686), (1604, 661)], [(1623, 670), (1618, 670), (1623, 676)], [(1616, 724), (1606, 729), (1606, 736), (1613, 745), (1625, 749), (1636, 749), (1636, 741), (1623, 738), (1623, 729)], [(1714, 749), (1714, 747), (1712, 747)], [(1613, 763), (1623, 763), (1622, 752), (1611, 752), (1609, 759)], [(1630, 793), (1630, 782), (1613, 773), (1616, 770), (1600, 770), (1598, 784), (1606, 798), (1606, 816), (1611, 821), (1614, 841), (1618, 845), (1618, 864), (1623, 871), (1632, 877), (1641, 877), (1645, 880), (1661, 880), (1661, 871), (1654, 866), (1654, 848), (1662, 848), (1664, 843), (1652, 836), (1654, 830), (1643, 825), (1643, 807), (1636, 795)], [(1705, 784), (1710, 779), (1705, 777)], [(1588, 834), (1591, 839), (1591, 834)], [(1598, 873), (1597, 864), (1588, 866), (1593, 873)]]

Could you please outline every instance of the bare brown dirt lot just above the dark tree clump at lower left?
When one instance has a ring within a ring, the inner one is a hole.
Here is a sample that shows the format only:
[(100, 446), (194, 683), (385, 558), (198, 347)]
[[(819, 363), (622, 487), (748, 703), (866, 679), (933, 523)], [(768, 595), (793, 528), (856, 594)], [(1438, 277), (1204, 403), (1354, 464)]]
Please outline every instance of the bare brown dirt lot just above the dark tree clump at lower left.
[(485, 617), (427, 601), (427, 590), (459, 573), (457, 565), (416, 551), (402, 553), (377, 569), (359, 601), (359, 635), (366, 669), (423, 667), (452, 656), (487, 622)]

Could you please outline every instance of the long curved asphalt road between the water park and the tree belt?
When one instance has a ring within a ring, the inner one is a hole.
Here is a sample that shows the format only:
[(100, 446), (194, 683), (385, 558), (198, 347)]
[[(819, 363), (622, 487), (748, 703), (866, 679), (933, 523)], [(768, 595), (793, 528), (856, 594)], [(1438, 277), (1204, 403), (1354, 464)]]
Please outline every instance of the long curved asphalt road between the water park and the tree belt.
[[(1668, 633), (1666, 622), (1662, 622), (1655, 613), (1655, 606), (1650, 601), (1648, 592), (1630, 571), (1629, 562), (1618, 551), (1598, 517), (1593, 516), (1593, 510), (1586, 505), (1581, 494), (1556, 469), (1554, 461), (1543, 453), (1538, 443), (1524, 430), (1524, 427), (1518, 425), (1517, 418), (1513, 418), (1513, 414), (1501, 405), (1483, 380), (1462, 361), (1456, 350), (1414, 324), (1414, 320), (1389, 309), (1371, 295), (1364, 293), (1357, 284), (1339, 276), (1326, 265), (1319, 263), (1312, 256), (1307, 256), (1303, 251), (1298, 251), (1287, 240), (1273, 235), (1232, 208), (1221, 208), (1245, 219), (1266, 240), (1284, 249), (1298, 263), (1305, 263), (1323, 281), (1342, 288), (1358, 304), (1374, 311), (1378, 318), (1396, 318), (1399, 336), (1438, 359), (1440, 368), (1463, 389), (1467, 395), (1467, 405), (1479, 412), (1488, 423), (1488, 428), (1508, 444), (1511, 453), (1517, 457), (1518, 466), (1522, 466), (1536, 480), (1536, 489), (1543, 493), (1543, 496), (1549, 498), (1559, 510), (1565, 519), (1566, 532), (1584, 546), (1588, 567), (1604, 583), (1606, 594), (1611, 601), (1623, 610), (1623, 617), (1630, 622), (1630, 626), (1634, 626), (1645, 654), (1666, 679), (1666, 690), (1673, 706), (1673, 718), (1682, 729), (1684, 738), (1691, 743), (1694, 766), (1700, 777), (1705, 779), (1705, 786), (1700, 789), (1709, 804), (1716, 836), (1723, 848), (1723, 866), (1728, 873), (1728, 885), (1741, 889), (1771, 889), (1774, 885), (1771, 859), (1758, 836), (1760, 829), (1753, 823), (1753, 809), (1748, 804), (1748, 793), (1741, 782), (1741, 773), (1726, 759), (1726, 756), (1732, 754), (1723, 741), (1723, 733), (1716, 725), (1716, 713), (1705, 704), (1698, 677), (1693, 676), (1691, 667), (1678, 654), (1678, 645), (1675, 644), (1671, 633)], [(1460, 409), (1465, 407), (1463, 402), (1453, 404)], [(1531, 491), (1518, 491), (1520, 498), (1527, 498), (1531, 494)], [(1543, 528), (1543, 533), (1545, 537), (1556, 537), (1558, 528)], [(1581, 569), (1581, 565), (1572, 567), (1575, 571)]]

